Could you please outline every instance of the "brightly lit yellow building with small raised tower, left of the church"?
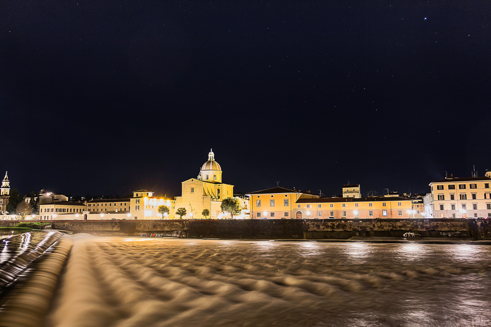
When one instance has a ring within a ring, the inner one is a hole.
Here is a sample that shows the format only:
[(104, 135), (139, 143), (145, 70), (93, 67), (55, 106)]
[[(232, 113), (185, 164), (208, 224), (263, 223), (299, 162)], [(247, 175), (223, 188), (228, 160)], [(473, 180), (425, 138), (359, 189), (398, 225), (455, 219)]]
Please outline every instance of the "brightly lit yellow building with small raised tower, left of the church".
[(175, 200), (170, 198), (154, 197), (154, 192), (139, 190), (133, 192), (130, 199), (131, 219), (163, 219), (159, 213), (159, 205), (166, 205), (170, 213), (164, 219), (174, 219)]

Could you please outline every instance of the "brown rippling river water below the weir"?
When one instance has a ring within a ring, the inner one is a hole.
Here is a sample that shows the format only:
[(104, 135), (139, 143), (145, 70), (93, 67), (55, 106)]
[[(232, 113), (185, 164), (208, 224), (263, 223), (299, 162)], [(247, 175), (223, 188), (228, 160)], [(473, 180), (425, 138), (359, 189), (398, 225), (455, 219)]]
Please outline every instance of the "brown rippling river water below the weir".
[(46, 325), (488, 326), (490, 276), (479, 245), (78, 235)]

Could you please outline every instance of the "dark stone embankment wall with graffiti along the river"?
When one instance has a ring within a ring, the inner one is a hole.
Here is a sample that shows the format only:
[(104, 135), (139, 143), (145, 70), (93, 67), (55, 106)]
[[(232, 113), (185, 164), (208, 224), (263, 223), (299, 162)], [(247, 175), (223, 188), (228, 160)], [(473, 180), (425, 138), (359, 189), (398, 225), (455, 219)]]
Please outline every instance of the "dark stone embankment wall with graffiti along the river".
[(99, 236), (178, 236), (229, 239), (348, 239), (353, 236), (491, 239), (491, 220), (261, 219), (53, 221), (55, 229)]

